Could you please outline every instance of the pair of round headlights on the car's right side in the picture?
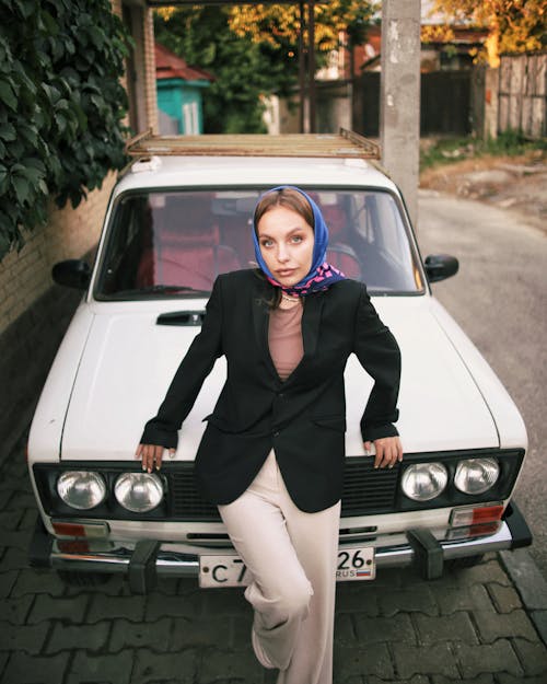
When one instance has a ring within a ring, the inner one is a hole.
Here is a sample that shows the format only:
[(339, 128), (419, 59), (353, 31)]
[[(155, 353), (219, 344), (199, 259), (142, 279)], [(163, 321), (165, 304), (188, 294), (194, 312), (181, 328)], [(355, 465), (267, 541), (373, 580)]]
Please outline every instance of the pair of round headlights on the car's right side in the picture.
[[(496, 459), (466, 459), (456, 466), (454, 486), (463, 494), (484, 494), (494, 486), (499, 476)], [(401, 487), (409, 499), (430, 501), (446, 489), (449, 482), (449, 469), (443, 463), (415, 463), (405, 469)]]

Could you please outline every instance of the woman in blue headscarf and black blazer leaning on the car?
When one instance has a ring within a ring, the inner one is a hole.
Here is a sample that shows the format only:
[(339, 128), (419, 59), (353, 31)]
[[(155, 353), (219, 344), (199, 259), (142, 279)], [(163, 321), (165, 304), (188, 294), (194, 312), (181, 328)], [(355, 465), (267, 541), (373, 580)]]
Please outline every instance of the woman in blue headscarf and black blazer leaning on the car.
[(259, 270), (220, 276), (200, 334), (183, 359), (137, 455), (151, 472), (173, 452), (214, 360), (228, 379), (196, 456), (253, 582), (252, 644), (278, 684), (330, 684), (340, 495), (344, 369), (354, 352), (374, 379), (361, 431), (375, 467), (403, 450), (393, 422), (400, 357), (365, 287), (326, 264), (328, 231), (299, 188), (269, 190), (255, 210)]

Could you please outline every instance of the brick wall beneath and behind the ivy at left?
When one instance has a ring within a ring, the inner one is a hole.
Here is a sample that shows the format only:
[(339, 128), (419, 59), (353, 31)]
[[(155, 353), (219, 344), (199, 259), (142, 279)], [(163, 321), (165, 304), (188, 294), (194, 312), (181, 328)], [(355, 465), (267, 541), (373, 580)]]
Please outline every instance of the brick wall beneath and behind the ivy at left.
[[(113, 0), (121, 16), (123, 1)], [(142, 128), (158, 130), (155, 57), (152, 10), (127, 3), (138, 11), (142, 25), (136, 53), (138, 106)], [(125, 80), (123, 80), (125, 83)], [(51, 202), (45, 227), (25, 232), (26, 243), (0, 263), (0, 460), (7, 456), (28, 427), (42, 385), (82, 293), (53, 282), (51, 267), (67, 258), (90, 257), (98, 241), (108, 198), (116, 181), (110, 173), (100, 190), (89, 194), (77, 209), (59, 210)]]

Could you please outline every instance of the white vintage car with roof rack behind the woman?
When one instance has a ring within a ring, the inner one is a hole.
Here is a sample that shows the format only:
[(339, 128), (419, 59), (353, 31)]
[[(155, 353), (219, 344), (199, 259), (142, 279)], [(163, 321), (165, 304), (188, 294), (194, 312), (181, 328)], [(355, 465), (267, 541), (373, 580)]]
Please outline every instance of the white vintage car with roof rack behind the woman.
[[(194, 147), (193, 147), (194, 146)], [(352, 135), (149, 138), (120, 176), (92, 269), (54, 268), (83, 299), (42, 393), (28, 441), (39, 519), (31, 561), (68, 581), (128, 576), (136, 592), (156, 575), (203, 587), (248, 581), (193, 461), (225, 376), (220, 359), (159, 473), (135, 457), (144, 422), (199, 331), (217, 275), (253, 267), (251, 217), (264, 189), (296, 185), (319, 204), (328, 260), (366, 282), (403, 358), (405, 459), (375, 471), (359, 420), (371, 379), (346, 369), (347, 465), (339, 580), (371, 580), (417, 564), (470, 564), (531, 543), (511, 495), (526, 431), (485, 359), (432, 297), (457, 260), (421, 260), (399, 190)], [(363, 152), (364, 151), (364, 152)]]

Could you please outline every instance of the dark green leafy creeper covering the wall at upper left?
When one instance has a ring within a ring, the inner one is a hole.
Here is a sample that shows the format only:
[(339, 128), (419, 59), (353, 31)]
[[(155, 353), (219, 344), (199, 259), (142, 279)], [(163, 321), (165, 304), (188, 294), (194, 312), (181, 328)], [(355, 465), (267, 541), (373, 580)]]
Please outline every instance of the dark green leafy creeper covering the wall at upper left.
[(0, 0), (0, 259), (125, 163), (126, 53), (109, 0)]

